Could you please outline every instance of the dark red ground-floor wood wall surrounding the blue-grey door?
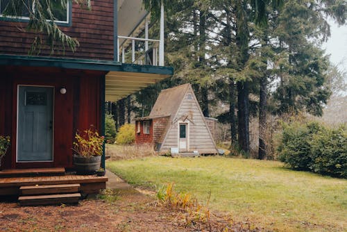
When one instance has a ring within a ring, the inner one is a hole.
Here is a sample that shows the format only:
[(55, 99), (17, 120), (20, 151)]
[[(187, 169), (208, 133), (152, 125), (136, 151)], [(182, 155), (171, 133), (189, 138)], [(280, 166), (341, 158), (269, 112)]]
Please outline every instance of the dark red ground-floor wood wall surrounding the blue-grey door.
[[(0, 66), (0, 134), (11, 135), (6, 168), (72, 167), (72, 142), (76, 130), (94, 125), (100, 131), (100, 85), (105, 72), (48, 67)], [(49, 78), (47, 78), (49, 76)], [(49, 85), (54, 94), (53, 163), (16, 163), (17, 85)], [(67, 89), (60, 94), (60, 88)], [(5, 97), (3, 97), (5, 96)]]

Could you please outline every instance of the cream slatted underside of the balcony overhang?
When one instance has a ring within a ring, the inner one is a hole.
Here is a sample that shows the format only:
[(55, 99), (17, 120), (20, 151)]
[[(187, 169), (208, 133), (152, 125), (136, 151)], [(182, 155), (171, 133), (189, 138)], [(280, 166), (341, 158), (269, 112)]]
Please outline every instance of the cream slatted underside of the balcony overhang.
[(118, 101), (169, 76), (171, 75), (142, 72), (108, 72), (105, 78), (105, 100)]

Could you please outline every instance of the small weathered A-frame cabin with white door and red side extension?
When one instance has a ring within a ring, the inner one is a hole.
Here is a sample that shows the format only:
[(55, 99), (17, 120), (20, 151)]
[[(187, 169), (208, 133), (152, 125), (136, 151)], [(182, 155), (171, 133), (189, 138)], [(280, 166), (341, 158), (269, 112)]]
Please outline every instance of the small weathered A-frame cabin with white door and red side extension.
[(135, 119), (136, 144), (153, 144), (162, 153), (217, 154), (217, 119), (204, 117), (187, 83), (160, 92), (148, 117)]

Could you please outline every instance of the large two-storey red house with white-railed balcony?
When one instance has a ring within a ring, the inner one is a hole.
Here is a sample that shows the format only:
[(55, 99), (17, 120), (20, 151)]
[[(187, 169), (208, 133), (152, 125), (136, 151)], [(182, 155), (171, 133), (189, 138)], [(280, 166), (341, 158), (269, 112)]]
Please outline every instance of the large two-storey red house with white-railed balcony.
[(8, 1), (0, 0), (0, 135), (11, 137), (2, 168), (73, 167), (74, 134), (90, 125), (104, 133), (105, 101), (173, 74), (163, 66), (163, 20), (159, 40), (149, 38), (142, 0), (92, 0), (92, 10), (67, 1), (58, 24), (80, 46), (53, 55), (42, 47), (40, 56), (28, 56), (35, 38), (21, 29), (28, 18), (3, 17)]

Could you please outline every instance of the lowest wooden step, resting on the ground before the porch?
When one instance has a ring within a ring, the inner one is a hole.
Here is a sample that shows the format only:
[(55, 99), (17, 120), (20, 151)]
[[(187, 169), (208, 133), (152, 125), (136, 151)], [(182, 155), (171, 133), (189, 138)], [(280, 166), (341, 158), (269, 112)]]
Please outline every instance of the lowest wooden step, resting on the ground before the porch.
[(21, 196), (18, 198), (21, 206), (41, 206), (51, 204), (77, 204), (81, 194), (49, 194), (36, 196)]

